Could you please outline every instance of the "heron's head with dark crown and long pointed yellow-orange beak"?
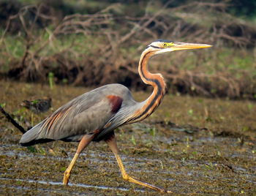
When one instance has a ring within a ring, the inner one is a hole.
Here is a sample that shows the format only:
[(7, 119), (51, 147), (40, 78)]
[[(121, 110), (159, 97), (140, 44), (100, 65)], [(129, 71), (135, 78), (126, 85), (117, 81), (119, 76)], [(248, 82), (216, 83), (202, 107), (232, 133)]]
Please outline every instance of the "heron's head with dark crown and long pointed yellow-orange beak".
[(165, 39), (158, 39), (148, 45), (147, 49), (154, 52), (154, 54), (167, 53), (176, 50), (189, 50), (198, 48), (210, 48), (212, 45), (207, 44), (194, 44), (186, 42), (173, 42)]

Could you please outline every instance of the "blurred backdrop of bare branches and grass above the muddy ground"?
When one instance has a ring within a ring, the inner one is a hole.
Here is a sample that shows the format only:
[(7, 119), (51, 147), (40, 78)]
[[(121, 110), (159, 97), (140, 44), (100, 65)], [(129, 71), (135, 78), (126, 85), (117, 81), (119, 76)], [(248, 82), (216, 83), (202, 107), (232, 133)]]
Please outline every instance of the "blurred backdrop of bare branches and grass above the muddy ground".
[(256, 99), (256, 1), (0, 1), (0, 79), (146, 90), (140, 53), (156, 39), (214, 45), (151, 60), (169, 91)]

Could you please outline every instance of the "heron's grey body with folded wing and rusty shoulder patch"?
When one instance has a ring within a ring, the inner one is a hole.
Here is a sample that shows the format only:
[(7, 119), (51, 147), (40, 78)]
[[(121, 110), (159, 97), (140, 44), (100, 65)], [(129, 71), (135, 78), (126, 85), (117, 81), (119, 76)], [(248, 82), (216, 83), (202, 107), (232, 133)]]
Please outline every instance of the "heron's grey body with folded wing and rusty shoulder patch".
[(127, 87), (120, 84), (102, 86), (56, 110), (26, 132), (20, 143), (26, 145), (45, 139), (78, 141), (82, 135), (94, 131), (99, 131), (103, 139), (108, 132), (125, 124), (127, 116), (136, 109), (135, 105)]

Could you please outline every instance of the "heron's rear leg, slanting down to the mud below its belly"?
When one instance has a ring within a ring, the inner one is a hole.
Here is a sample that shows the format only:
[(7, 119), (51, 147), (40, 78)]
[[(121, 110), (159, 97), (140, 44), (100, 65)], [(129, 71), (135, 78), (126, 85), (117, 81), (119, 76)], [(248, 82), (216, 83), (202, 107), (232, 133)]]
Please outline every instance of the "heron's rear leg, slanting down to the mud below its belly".
[(80, 143), (78, 144), (78, 149), (75, 152), (75, 156), (73, 157), (72, 161), (70, 162), (69, 167), (67, 167), (67, 170), (65, 170), (63, 184), (65, 184), (65, 185), (68, 184), (70, 172), (71, 172), (72, 168), (74, 167), (75, 162), (79, 157), (79, 154), (81, 153), (81, 151), (83, 151), (84, 148), (86, 148), (86, 146), (89, 145), (89, 143), (91, 142), (91, 140), (93, 140), (93, 138), (94, 138), (94, 135), (84, 135), (82, 137), (82, 139), (80, 140)]

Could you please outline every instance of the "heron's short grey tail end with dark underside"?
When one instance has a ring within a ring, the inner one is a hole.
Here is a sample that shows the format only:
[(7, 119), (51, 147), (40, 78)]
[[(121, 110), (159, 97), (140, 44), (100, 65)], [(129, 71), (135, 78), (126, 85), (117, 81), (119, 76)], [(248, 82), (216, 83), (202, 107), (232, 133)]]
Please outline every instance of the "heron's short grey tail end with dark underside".
[(32, 146), (37, 143), (47, 143), (52, 141), (51, 139), (47, 138), (38, 138), (39, 130), (42, 127), (43, 121), (37, 124), (36, 126), (32, 127), (24, 133), (20, 139), (21, 146)]

